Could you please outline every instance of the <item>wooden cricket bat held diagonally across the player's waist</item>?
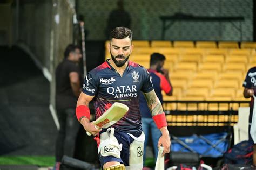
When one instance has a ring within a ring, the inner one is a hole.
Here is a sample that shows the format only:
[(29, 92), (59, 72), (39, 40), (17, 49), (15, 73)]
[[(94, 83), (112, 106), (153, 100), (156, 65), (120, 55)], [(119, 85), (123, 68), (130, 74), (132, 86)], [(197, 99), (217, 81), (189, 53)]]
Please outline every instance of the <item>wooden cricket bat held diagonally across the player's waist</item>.
[[(113, 124), (117, 123), (129, 110), (127, 105), (115, 102), (107, 111), (102, 114), (99, 118), (96, 119), (93, 124), (95, 128), (109, 128)], [(88, 136), (91, 136), (90, 132), (86, 132)]]

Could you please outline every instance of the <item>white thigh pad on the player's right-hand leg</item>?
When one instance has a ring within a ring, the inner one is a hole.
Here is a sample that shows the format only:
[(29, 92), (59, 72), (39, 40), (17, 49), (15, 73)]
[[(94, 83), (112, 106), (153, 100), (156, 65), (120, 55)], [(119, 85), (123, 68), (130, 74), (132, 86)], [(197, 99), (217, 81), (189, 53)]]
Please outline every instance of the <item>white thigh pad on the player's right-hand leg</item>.
[(132, 134), (129, 135), (134, 139), (134, 141), (130, 144), (129, 168), (142, 169), (145, 134), (142, 132), (138, 138)]

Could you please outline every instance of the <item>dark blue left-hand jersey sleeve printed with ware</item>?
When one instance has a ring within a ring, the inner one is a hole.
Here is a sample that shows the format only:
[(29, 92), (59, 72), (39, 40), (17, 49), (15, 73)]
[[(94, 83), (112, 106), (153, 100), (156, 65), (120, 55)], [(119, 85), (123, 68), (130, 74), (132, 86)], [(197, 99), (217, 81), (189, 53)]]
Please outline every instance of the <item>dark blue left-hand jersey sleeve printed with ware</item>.
[(89, 72), (85, 79), (83, 84), (83, 93), (90, 96), (95, 96), (98, 93), (98, 82), (97, 76), (95, 73)]

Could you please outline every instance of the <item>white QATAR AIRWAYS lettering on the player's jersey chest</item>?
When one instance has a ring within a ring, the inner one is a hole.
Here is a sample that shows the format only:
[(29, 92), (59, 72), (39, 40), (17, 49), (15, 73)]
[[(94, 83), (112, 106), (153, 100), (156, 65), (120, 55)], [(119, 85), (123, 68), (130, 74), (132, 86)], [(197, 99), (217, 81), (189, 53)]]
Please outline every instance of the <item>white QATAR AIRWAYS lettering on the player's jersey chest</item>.
[(108, 87), (107, 93), (114, 96), (114, 98), (129, 98), (137, 97), (137, 86), (117, 86), (117, 87)]

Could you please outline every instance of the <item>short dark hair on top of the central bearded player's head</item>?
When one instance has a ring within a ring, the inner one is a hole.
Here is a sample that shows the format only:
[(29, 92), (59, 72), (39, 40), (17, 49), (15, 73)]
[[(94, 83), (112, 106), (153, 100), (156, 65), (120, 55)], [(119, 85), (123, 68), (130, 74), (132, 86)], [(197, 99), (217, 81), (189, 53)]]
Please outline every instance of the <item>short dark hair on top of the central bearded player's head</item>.
[(124, 39), (129, 37), (132, 40), (132, 31), (126, 27), (116, 27), (113, 31), (110, 32), (109, 40), (114, 39)]

